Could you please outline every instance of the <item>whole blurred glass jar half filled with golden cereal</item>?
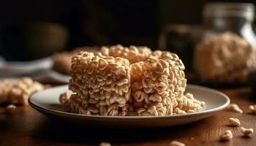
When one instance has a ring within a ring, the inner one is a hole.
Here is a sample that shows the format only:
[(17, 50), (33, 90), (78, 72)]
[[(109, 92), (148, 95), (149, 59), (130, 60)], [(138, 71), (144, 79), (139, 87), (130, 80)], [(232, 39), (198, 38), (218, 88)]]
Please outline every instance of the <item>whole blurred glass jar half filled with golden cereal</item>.
[(193, 67), (202, 82), (244, 83), (256, 67), (255, 7), (246, 3), (209, 3)]

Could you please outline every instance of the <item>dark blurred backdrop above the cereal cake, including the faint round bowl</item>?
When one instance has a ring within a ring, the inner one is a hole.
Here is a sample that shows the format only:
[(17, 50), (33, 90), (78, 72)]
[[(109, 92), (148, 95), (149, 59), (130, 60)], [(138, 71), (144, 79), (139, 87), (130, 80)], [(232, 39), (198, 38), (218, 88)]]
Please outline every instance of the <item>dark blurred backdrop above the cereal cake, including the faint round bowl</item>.
[(168, 25), (200, 26), (207, 2), (1, 1), (0, 55), (7, 61), (29, 61), (84, 45), (158, 48), (159, 36)]

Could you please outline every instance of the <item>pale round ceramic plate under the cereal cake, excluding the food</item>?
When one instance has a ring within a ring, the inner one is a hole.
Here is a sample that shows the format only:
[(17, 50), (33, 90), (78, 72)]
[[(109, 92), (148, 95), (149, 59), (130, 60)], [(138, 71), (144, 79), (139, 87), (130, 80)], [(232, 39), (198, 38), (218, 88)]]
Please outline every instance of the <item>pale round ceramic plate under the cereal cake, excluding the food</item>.
[(223, 110), (230, 103), (230, 99), (219, 91), (197, 85), (187, 85), (187, 92), (193, 93), (196, 99), (206, 102), (206, 107), (199, 112), (188, 113), (186, 115), (169, 116), (102, 116), (102, 115), (80, 115), (64, 112), (59, 104), (59, 94), (63, 92), (71, 93), (67, 85), (49, 88), (45, 91), (35, 93), (29, 99), (29, 104), (39, 112), (53, 118), (67, 120), (73, 123), (82, 123), (86, 126), (123, 127), (123, 128), (152, 128), (164, 126), (177, 126), (191, 123), (196, 120), (207, 118), (210, 115)]

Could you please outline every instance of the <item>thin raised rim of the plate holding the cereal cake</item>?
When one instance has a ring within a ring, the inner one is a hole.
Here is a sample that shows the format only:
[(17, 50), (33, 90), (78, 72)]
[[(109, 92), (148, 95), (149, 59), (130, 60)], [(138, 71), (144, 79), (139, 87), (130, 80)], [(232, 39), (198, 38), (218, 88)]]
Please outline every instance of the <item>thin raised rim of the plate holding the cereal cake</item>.
[(32, 98), (34, 98), (34, 96), (37, 96), (37, 94), (48, 91), (48, 90), (54, 90), (55, 88), (64, 88), (67, 87), (67, 85), (59, 85), (53, 88), (48, 88), (44, 91), (40, 91), (38, 93), (34, 93), (30, 98), (29, 98), (29, 105), (31, 107), (33, 107), (35, 110), (40, 111), (45, 111), (45, 112), (50, 112), (53, 115), (67, 115), (67, 116), (72, 116), (72, 117), (76, 117), (76, 118), (96, 118), (96, 119), (116, 119), (116, 120), (124, 120), (124, 119), (132, 119), (132, 120), (142, 120), (142, 119), (165, 119), (165, 118), (187, 118), (187, 117), (192, 117), (192, 116), (200, 116), (200, 115), (206, 115), (206, 114), (212, 114), (213, 112), (219, 112), (220, 110), (225, 109), (225, 107), (227, 107), (228, 104), (230, 104), (230, 99), (229, 97), (225, 94), (222, 93), (221, 91), (217, 91), (216, 89), (213, 88), (208, 88), (208, 87), (204, 87), (204, 86), (200, 86), (200, 85), (192, 85), (192, 84), (187, 84), (187, 87), (189, 86), (189, 88), (195, 88), (195, 89), (199, 89), (199, 90), (205, 90), (205, 91), (210, 91), (210, 92), (214, 92), (217, 93), (219, 95), (221, 95), (222, 97), (224, 97), (225, 99), (225, 104), (222, 104), (219, 107), (214, 107), (212, 109), (209, 110), (202, 110), (199, 112), (191, 112), (191, 113), (187, 113), (187, 114), (179, 114), (179, 115), (165, 115), (165, 116), (109, 116), (109, 115), (83, 115), (83, 114), (77, 114), (77, 113), (72, 113), (72, 112), (62, 112), (59, 110), (52, 110), (52, 109), (48, 109), (46, 107), (42, 107), (39, 106), (37, 104), (34, 104), (32, 100)]

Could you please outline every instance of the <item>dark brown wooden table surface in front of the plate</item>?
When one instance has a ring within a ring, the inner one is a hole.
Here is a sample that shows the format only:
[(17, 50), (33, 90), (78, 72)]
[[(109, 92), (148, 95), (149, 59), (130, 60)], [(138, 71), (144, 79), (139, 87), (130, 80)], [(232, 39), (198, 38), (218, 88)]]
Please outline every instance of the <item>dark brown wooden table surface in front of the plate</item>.
[[(42, 115), (29, 106), (18, 107), (12, 115), (0, 114), (0, 145), (169, 145), (172, 140), (187, 145), (256, 145), (256, 115), (248, 106), (255, 104), (249, 88), (221, 90), (238, 104), (244, 114), (222, 111), (216, 115), (184, 126), (157, 129), (103, 129), (82, 127), (59, 122)], [(255, 96), (256, 99), (256, 96)], [(241, 126), (254, 128), (252, 137), (241, 137), (238, 128), (227, 127), (227, 119), (241, 121)], [(226, 129), (233, 131), (233, 139), (219, 142)]]

